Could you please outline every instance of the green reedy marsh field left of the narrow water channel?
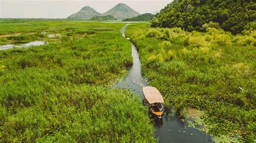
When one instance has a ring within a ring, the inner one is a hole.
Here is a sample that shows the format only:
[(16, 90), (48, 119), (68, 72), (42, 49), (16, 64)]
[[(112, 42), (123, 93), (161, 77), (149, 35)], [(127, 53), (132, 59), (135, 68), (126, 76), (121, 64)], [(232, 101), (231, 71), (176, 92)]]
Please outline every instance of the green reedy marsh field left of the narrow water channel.
[(1, 44), (49, 41), (0, 51), (1, 141), (154, 141), (138, 97), (110, 88), (132, 65), (124, 25), (0, 20), (0, 35), (23, 33)]

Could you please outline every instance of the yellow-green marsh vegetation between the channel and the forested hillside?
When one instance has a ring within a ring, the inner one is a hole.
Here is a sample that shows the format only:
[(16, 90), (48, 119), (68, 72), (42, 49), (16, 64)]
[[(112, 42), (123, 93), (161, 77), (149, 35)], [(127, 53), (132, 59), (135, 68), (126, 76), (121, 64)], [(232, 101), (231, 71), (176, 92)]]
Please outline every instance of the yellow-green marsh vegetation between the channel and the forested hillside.
[(208, 133), (255, 141), (256, 31), (232, 35), (210, 27), (200, 33), (131, 24), (126, 35), (138, 47), (143, 75), (181, 118), (186, 108), (203, 110)]

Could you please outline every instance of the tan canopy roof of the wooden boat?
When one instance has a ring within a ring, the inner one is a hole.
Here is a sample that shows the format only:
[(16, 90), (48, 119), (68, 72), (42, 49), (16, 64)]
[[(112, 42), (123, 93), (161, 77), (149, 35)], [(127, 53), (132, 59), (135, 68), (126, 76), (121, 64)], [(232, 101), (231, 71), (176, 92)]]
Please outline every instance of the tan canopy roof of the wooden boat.
[(164, 103), (163, 96), (155, 87), (143, 87), (143, 94), (149, 104)]

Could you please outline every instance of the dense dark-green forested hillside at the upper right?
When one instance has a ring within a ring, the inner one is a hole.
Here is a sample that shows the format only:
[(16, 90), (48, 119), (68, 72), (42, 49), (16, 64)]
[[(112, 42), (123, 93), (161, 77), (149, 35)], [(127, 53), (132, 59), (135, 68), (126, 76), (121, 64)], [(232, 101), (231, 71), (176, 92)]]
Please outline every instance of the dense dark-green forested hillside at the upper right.
[[(152, 27), (181, 27), (186, 31), (205, 31), (210, 22), (232, 34), (255, 29), (256, 3), (252, 0), (174, 0), (152, 20)], [(207, 25), (205, 25), (207, 26)]]

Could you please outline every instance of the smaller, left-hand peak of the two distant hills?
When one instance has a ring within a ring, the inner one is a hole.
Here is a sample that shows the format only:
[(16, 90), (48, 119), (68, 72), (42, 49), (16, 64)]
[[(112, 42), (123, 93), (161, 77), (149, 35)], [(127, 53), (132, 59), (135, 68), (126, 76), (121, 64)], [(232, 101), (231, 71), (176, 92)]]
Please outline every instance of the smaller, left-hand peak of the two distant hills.
[(84, 6), (80, 11), (74, 13), (73, 15), (69, 16), (68, 18), (85, 18), (90, 19), (94, 16), (99, 16), (101, 13), (97, 12), (95, 9), (91, 8), (90, 6)]

